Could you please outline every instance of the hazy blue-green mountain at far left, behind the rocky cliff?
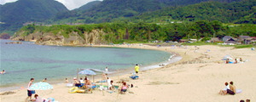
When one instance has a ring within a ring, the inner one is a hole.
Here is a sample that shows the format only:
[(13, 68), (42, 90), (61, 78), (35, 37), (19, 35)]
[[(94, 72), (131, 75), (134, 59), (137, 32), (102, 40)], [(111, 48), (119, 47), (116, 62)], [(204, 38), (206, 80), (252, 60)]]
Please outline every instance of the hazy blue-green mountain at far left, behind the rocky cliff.
[(19, 0), (0, 6), (0, 32), (16, 31), (28, 21), (44, 21), (68, 9), (55, 0)]

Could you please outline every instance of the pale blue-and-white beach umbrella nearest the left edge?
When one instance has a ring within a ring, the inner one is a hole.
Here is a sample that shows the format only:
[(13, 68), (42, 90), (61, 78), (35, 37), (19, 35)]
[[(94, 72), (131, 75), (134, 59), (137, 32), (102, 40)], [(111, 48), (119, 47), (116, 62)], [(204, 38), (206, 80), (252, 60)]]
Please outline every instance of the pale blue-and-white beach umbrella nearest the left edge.
[(52, 88), (53, 87), (48, 82), (36, 82), (29, 87), (31, 90), (48, 90)]

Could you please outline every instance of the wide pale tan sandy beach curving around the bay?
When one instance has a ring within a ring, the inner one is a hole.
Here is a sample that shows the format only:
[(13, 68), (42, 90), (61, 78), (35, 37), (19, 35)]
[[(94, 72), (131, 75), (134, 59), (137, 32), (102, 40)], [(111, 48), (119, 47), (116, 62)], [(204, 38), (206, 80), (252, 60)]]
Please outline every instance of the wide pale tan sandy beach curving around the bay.
[[(127, 80), (134, 88), (126, 94), (108, 93), (99, 89), (92, 94), (69, 94), (65, 83), (54, 84), (52, 90), (36, 91), (40, 97), (55, 98), (59, 102), (239, 102), (256, 100), (256, 51), (250, 48), (219, 46), (188, 46), (183, 48), (154, 47), (141, 44), (131, 46), (104, 46), (120, 48), (147, 48), (173, 52), (183, 59), (148, 71), (140, 71), (139, 79), (131, 80), (131, 74), (110, 77), (114, 85), (120, 79)], [(241, 64), (224, 64), (224, 55), (247, 60)], [(29, 78), (28, 78), (29, 79)], [(99, 80), (99, 79), (98, 79)], [(219, 95), (224, 82), (234, 82), (242, 92), (236, 95)], [(37, 80), (35, 80), (37, 82)], [(64, 82), (64, 81), (63, 81)], [(105, 83), (106, 84), (106, 83)], [(1, 102), (24, 102), (26, 89), (11, 90), (15, 94), (0, 95)], [(3, 92), (6, 93), (6, 92)], [(3, 94), (2, 93), (2, 94)]]

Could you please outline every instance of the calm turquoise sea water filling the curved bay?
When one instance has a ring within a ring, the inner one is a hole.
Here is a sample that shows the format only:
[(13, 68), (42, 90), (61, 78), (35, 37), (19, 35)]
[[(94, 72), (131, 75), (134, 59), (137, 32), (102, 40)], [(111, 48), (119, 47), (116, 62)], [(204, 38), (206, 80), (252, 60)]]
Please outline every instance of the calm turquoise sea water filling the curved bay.
[(136, 64), (152, 65), (169, 59), (171, 54), (136, 48), (92, 48), (37, 45), (34, 42), (6, 44), (1, 41), (0, 91), (7, 87), (26, 86), (30, 78), (40, 82), (64, 81), (65, 77), (76, 77), (78, 68), (93, 68), (108, 71), (133, 70)]

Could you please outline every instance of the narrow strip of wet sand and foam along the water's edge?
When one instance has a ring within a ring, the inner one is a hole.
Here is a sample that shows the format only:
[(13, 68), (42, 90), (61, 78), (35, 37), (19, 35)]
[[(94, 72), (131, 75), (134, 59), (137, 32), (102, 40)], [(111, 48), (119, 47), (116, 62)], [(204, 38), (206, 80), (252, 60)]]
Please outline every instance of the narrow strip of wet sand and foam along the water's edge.
[[(135, 44), (135, 45), (137, 46), (137, 44)], [(48, 46), (50, 46), (50, 45), (48, 45)], [(139, 46), (141, 48), (141, 44), (139, 44)], [(85, 45), (85, 46), (72, 46), (72, 47), (132, 48), (133, 45), (129, 45), (128, 47), (125, 47), (125, 45), (123, 45), (123, 46), (114, 46), (114, 45)], [(137, 48), (137, 47), (135, 47), (135, 48)], [(137, 48), (137, 49), (139, 49), (139, 48)], [(142, 49), (157, 50), (157, 49), (152, 49), (152, 48), (142, 48)], [(162, 50), (159, 50), (159, 51), (162, 51)], [(150, 65), (140, 65), (140, 71), (148, 71), (148, 70), (152, 70), (152, 69), (161, 68), (161, 67), (164, 67), (164, 65), (170, 65), (170, 64), (176, 63), (177, 61), (182, 59), (182, 56), (178, 56), (177, 54), (175, 54), (175, 52), (167, 52), (167, 51), (164, 51), (164, 52), (172, 54), (169, 57), (169, 59), (171, 59), (171, 60), (165, 60), (163, 62), (156, 62), (156, 63), (150, 64)], [(160, 65), (163, 65), (163, 66), (160, 66)], [(132, 73), (133, 70), (131, 70), (131, 69), (133, 69), (133, 67), (127, 68), (127, 69), (122, 69), (122, 70), (119, 70), (119, 71), (113, 71), (113, 73), (111, 73), (110, 76), (111, 77), (114, 77), (115, 75), (122, 76), (122, 75), (125, 75), (125, 74)], [(115, 74), (115, 75), (113, 75), (113, 74)], [(101, 75), (96, 75), (96, 77), (98, 78), (96, 80), (100, 80)], [(62, 78), (53, 78), (53, 79), (54, 80), (49, 82), (51, 85), (61, 84), (61, 82), (64, 82), (62, 80)], [(69, 77), (69, 79), (72, 79), (72, 77)], [(20, 90), (20, 89), (24, 89), (24, 88), (26, 88), (26, 82), (22, 83), (21, 86), (20, 86), (20, 84), (17, 84), (15, 86), (3, 86), (0, 89), (0, 94), (1, 93), (5, 93), (5, 92), (9, 92), (9, 91), (16, 91), (16, 90)]]

